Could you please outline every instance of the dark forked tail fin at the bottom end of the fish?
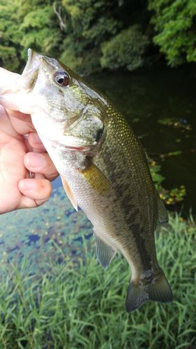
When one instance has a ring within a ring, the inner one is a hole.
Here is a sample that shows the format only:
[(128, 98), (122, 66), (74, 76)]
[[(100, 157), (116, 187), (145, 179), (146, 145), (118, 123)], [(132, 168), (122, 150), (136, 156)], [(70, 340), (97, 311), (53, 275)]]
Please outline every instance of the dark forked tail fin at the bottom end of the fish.
[(135, 311), (148, 300), (163, 303), (173, 300), (172, 290), (162, 271), (149, 284), (146, 284), (145, 279), (140, 279), (140, 283), (130, 281), (126, 297), (126, 311), (128, 313)]

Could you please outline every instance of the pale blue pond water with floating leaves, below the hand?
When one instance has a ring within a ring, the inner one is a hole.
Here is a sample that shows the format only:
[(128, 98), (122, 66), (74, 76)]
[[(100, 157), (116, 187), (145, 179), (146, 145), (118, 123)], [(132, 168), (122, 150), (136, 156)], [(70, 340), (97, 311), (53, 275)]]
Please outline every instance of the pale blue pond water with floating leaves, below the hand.
[(81, 235), (93, 244), (91, 223), (59, 186), (45, 205), (1, 215), (0, 274), (10, 263), (24, 269), (25, 260), (28, 274), (47, 272), (51, 259), (77, 262), (83, 255)]

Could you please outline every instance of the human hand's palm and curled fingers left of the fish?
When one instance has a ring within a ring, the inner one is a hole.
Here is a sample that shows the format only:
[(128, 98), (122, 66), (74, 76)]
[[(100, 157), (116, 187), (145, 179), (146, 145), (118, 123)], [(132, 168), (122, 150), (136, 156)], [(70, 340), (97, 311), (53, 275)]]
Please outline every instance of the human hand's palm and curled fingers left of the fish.
[(57, 176), (30, 115), (0, 105), (0, 214), (43, 204)]

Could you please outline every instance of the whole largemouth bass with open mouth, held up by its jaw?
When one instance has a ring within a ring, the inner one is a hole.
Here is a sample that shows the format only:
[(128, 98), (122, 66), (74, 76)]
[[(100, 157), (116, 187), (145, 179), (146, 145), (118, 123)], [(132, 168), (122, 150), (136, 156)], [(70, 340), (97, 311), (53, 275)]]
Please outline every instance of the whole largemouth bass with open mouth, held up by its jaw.
[(66, 65), (33, 50), (2, 104), (31, 114), (72, 203), (93, 225), (96, 255), (107, 268), (117, 251), (131, 279), (126, 311), (146, 301), (172, 302), (156, 257), (154, 232), (167, 210), (142, 144), (111, 101)]

